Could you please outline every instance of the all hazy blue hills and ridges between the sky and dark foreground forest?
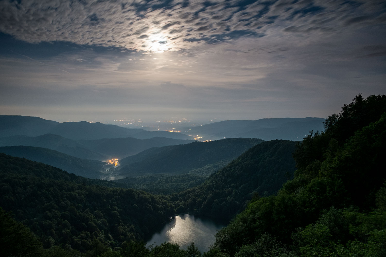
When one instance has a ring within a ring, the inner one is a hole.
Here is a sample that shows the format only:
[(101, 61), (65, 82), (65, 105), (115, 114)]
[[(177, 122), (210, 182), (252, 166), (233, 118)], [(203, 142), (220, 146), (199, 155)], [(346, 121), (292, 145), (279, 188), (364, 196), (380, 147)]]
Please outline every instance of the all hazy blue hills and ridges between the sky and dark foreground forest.
[[(224, 163), (263, 140), (297, 141), (302, 140), (310, 130), (322, 131), (324, 120), (310, 117), (229, 120), (186, 127), (181, 129), (185, 131), (185, 134), (182, 134), (86, 121), (58, 123), (38, 117), (0, 115), (0, 146), (45, 148), (36, 151), (45, 152), (47, 156), (55, 159), (51, 162), (53, 164), (40, 157), (32, 160), (50, 165), (65, 162), (58, 160), (58, 153), (49, 152), (48, 149), (83, 160), (122, 159), (119, 173), (123, 177), (154, 173), (181, 174), (194, 169), (198, 169), (196, 173), (208, 173), (214, 169), (211, 167), (222, 167)], [(191, 139), (196, 135), (201, 137), (201, 140), (229, 140), (194, 142)], [(231, 138), (234, 139), (230, 140)], [(27, 148), (24, 151), (27, 151)], [(64, 158), (71, 159), (68, 156)], [(70, 168), (59, 167), (72, 172)]]

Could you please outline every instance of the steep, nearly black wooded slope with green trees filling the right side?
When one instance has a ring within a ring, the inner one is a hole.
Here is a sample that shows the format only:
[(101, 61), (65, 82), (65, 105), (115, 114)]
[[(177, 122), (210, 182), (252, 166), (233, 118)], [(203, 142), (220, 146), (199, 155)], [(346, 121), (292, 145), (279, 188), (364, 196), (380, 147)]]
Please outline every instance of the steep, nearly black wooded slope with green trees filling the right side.
[(216, 235), (230, 256), (385, 256), (386, 96), (355, 97), (296, 147), (298, 170)]

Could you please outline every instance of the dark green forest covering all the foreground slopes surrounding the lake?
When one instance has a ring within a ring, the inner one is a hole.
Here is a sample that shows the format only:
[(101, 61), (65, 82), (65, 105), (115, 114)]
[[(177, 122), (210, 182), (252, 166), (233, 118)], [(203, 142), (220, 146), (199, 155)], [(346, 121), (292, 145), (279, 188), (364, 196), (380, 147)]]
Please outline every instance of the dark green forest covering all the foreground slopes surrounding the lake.
[[(386, 256), (385, 145), (386, 96), (357, 95), (325, 131), (257, 144), (193, 188), (185, 189), (194, 173), (141, 182), (159, 195), (2, 154), (0, 254), (201, 256), (194, 244), (141, 242), (189, 211), (234, 217), (204, 257)], [(173, 180), (184, 190), (154, 185)]]

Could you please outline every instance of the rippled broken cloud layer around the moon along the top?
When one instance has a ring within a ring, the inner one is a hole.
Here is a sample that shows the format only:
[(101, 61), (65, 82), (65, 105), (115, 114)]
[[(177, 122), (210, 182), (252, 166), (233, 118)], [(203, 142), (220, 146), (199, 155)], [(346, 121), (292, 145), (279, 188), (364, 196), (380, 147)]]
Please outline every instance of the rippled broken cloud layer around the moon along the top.
[[(187, 4), (186, 4), (187, 3)], [(338, 34), (350, 27), (385, 23), (382, 1), (3, 1), (0, 30), (30, 43), (68, 41), (157, 52), (192, 49), (248, 35), (278, 33)], [(359, 27), (358, 27), (359, 26)], [(232, 31), (243, 33), (230, 34)], [(199, 32), (195, 37), (186, 32)], [(228, 36), (225, 39), (224, 35)], [(202, 41), (202, 42), (201, 42)]]

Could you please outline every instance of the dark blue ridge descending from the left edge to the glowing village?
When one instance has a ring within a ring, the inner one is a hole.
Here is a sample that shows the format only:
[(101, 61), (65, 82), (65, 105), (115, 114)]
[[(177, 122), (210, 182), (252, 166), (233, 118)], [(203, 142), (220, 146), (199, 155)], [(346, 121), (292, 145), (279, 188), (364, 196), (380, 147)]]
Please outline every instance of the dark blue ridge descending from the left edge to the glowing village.
[(105, 175), (103, 166), (105, 166), (106, 163), (103, 161), (80, 159), (47, 148), (34, 146), (2, 146), (0, 147), (0, 153), (52, 165), (86, 178), (102, 178)]

